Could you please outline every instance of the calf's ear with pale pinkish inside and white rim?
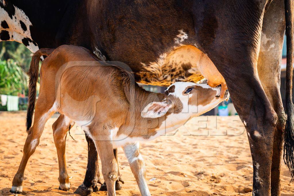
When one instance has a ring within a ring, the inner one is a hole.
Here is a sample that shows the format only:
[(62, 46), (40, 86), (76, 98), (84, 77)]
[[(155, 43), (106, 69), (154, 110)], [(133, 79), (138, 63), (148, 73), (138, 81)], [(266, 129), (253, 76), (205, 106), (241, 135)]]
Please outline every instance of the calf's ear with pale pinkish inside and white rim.
[(164, 116), (171, 106), (166, 102), (151, 102), (143, 109), (141, 116), (143, 118), (158, 118)]

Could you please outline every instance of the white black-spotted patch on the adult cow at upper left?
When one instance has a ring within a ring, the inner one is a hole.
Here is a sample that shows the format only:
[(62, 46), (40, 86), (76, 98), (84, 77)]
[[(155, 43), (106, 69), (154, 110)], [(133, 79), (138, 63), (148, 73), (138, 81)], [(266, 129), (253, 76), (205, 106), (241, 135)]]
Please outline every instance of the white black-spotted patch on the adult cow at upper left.
[(31, 52), (36, 52), (39, 47), (32, 40), (30, 27), (31, 21), (24, 11), (16, 6), (9, 14), (5, 9), (0, 7), (0, 41), (17, 41), (23, 43)]

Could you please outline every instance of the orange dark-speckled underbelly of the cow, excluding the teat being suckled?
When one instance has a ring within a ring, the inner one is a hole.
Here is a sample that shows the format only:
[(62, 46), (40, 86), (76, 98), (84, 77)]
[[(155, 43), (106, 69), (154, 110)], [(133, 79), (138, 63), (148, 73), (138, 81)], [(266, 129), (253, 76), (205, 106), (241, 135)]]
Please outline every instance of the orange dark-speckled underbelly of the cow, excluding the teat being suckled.
[(157, 86), (178, 81), (199, 82), (204, 78), (199, 70), (201, 58), (203, 53), (195, 46), (174, 47), (154, 62), (141, 63), (142, 69), (136, 73), (137, 82)]

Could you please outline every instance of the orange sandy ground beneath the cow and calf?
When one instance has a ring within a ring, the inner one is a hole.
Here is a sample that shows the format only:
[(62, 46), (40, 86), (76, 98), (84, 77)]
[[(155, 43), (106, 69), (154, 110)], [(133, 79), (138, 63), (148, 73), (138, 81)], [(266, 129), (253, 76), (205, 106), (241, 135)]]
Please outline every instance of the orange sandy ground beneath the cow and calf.
[[(58, 161), (50, 118), (36, 152), (25, 171), (24, 195), (73, 195), (83, 181), (87, 144), (79, 127), (66, 138), (66, 160), (71, 189), (58, 190)], [(26, 140), (25, 113), (0, 114), (0, 195), (11, 195), (11, 182), (22, 157)], [(154, 141), (141, 143), (147, 183), (152, 195), (251, 195), (252, 162), (248, 139), (238, 116), (201, 116), (178, 131)], [(118, 150), (121, 175), (125, 181), (118, 195), (140, 195), (122, 149)], [(101, 166), (100, 166), (101, 169)], [(282, 168), (282, 195), (294, 195), (290, 175)], [(155, 180), (151, 180), (155, 179)], [(92, 195), (106, 195), (96, 192)]]

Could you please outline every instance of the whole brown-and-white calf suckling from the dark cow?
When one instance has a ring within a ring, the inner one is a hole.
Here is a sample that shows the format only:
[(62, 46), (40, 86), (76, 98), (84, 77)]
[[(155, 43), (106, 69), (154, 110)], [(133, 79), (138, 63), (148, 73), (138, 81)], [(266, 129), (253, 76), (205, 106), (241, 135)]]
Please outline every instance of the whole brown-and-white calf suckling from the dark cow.
[[(41, 66), (40, 95), (30, 128), (41, 55), (49, 56)], [(96, 145), (108, 195), (115, 195), (115, 182), (119, 178), (113, 155), (116, 147), (123, 148), (141, 194), (150, 195), (138, 142), (175, 130), (229, 96), (227, 91), (224, 98), (220, 98), (220, 87), (190, 82), (174, 83), (165, 94), (151, 93), (139, 87), (122, 68), (97, 60), (90, 51), (78, 46), (63, 45), (54, 51), (40, 49), (34, 54), (30, 69), (28, 136), (11, 191), (22, 192), (26, 163), (39, 144), (46, 121), (59, 112), (61, 115), (53, 129), (61, 189), (69, 189), (65, 138), (75, 122)]]

